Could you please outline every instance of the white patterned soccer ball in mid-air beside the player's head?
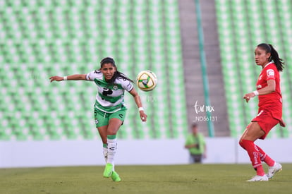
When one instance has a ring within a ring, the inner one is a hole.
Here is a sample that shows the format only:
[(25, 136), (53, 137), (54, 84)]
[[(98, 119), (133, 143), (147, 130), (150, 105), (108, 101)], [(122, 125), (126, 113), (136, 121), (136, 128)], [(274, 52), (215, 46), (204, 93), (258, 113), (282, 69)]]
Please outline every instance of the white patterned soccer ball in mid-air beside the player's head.
[(157, 85), (157, 76), (149, 70), (141, 71), (137, 75), (137, 85), (142, 91), (151, 91)]

